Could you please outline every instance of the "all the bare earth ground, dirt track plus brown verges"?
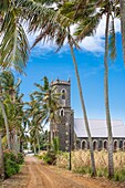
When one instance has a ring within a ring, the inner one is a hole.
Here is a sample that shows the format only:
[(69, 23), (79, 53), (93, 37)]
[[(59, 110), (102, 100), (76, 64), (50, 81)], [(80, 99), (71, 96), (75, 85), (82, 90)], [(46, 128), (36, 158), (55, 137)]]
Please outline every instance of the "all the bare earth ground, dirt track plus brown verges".
[(125, 182), (105, 178), (83, 177), (54, 166), (48, 166), (35, 157), (25, 157), (21, 173), (3, 181), (0, 188), (124, 188)]

